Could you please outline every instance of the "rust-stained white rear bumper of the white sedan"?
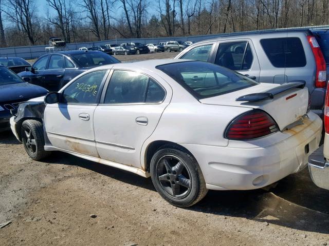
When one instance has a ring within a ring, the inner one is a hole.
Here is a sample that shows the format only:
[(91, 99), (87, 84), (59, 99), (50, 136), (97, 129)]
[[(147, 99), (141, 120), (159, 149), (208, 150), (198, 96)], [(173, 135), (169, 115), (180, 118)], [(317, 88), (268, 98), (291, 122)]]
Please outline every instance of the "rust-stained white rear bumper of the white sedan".
[(198, 161), (208, 189), (258, 189), (307, 166), (322, 131), (321, 119), (312, 112), (308, 115), (305, 125), (253, 141), (230, 140), (227, 147), (181, 145)]

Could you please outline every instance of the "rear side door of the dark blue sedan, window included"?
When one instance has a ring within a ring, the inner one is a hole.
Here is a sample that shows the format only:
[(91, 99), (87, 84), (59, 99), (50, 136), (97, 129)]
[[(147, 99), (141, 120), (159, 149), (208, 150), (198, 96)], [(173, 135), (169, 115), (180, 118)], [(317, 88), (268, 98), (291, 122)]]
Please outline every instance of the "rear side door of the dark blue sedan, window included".
[(48, 69), (44, 71), (45, 88), (48, 91), (58, 91), (65, 72), (64, 57), (61, 54), (51, 55)]

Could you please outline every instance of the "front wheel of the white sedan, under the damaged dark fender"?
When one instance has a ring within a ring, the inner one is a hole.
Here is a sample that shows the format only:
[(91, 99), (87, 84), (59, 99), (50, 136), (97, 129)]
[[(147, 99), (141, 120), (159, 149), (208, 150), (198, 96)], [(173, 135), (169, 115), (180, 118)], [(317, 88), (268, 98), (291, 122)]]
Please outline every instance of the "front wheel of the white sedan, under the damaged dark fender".
[(21, 136), (25, 151), (31, 159), (41, 160), (50, 155), (50, 152), (44, 149), (45, 139), (40, 121), (34, 119), (23, 121)]

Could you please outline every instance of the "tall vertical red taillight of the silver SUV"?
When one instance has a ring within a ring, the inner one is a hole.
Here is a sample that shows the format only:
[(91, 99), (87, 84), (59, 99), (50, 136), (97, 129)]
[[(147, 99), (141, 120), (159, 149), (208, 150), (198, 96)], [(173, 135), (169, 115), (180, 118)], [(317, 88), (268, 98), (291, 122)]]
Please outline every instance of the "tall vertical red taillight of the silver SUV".
[(315, 64), (317, 66), (315, 87), (323, 88), (325, 87), (325, 80), (327, 76), (324, 56), (317, 42), (317, 39), (314, 36), (307, 36), (307, 39), (310, 47), (312, 48)]

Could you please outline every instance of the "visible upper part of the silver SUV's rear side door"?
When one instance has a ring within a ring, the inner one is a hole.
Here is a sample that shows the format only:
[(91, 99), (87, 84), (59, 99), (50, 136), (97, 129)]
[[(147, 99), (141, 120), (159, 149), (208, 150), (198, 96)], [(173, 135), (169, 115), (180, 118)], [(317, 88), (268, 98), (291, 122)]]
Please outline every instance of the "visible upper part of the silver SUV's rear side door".
[(222, 41), (217, 48), (215, 64), (237, 71), (259, 81), (260, 66), (251, 40)]

